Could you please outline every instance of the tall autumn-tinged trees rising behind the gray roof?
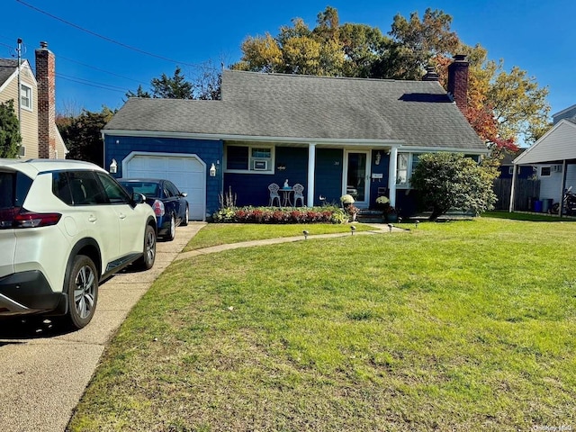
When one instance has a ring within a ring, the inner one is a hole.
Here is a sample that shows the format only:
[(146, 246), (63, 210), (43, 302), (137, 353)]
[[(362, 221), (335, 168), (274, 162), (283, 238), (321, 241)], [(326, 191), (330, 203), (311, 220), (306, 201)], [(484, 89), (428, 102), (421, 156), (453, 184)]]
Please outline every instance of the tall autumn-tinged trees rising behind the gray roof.
[(362, 76), (419, 80), (434, 66), (446, 86), (446, 68), (455, 54), (470, 61), (468, 111), (464, 115), (492, 148), (535, 142), (549, 128), (547, 88), (519, 67), (508, 72), (503, 61), (489, 60), (481, 45), (470, 47), (452, 31), (452, 16), (427, 9), (406, 19), (393, 18), (386, 36), (375, 27), (344, 23), (328, 7), (310, 29), (294, 19), (276, 36), (248, 37), (241, 60), (232, 68), (257, 72)]

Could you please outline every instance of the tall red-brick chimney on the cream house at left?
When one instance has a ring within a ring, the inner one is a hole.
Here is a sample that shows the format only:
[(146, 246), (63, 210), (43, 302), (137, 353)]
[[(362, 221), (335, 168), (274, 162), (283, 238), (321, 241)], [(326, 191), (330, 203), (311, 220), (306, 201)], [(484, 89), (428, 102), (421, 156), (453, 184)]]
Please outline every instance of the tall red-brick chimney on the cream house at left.
[(38, 157), (56, 158), (56, 76), (54, 54), (47, 42), (36, 49), (38, 82)]

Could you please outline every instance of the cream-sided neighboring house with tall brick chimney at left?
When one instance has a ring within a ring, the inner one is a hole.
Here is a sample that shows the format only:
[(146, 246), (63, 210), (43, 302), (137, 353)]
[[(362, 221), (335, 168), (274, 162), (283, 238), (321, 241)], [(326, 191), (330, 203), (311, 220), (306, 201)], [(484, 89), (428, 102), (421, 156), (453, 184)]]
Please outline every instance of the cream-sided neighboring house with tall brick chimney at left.
[(22, 130), (21, 157), (64, 158), (67, 148), (55, 123), (54, 54), (46, 42), (35, 54), (36, 75), (26, 59), (19, 73), (17, 59), (0, 58), (0, 103), (14, 100)]

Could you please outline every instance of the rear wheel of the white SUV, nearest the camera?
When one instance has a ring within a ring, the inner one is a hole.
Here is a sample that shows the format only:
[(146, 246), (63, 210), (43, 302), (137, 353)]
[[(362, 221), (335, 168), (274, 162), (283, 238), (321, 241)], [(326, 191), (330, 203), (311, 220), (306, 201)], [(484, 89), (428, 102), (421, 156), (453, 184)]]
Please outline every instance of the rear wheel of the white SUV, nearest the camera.
[(85, 327), (96, 310), (98, 302), (98, 273), (89, 257), (74, 257), (72, 270), (67, 282), (68, 319), (75, 329)]

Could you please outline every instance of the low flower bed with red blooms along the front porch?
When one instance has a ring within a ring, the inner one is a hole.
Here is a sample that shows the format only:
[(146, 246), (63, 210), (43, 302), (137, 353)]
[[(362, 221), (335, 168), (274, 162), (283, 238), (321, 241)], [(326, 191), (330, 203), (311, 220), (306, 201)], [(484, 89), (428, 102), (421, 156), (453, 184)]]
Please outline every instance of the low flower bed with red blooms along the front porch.
[(348, 215), (336, 206), (302, 207), (226, 207), (214, 212), (218, 223), (346, 223)]

